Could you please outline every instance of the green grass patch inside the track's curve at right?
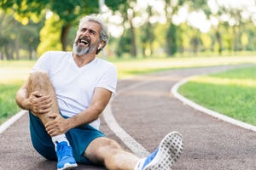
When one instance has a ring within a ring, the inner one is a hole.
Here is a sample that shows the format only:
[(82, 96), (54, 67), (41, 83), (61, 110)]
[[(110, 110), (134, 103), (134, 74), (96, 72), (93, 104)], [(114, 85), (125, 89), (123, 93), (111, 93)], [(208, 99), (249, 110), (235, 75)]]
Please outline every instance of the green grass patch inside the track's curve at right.
[(195, 77), (180, 94), (241, 122), (256, 125), (256, 66)]

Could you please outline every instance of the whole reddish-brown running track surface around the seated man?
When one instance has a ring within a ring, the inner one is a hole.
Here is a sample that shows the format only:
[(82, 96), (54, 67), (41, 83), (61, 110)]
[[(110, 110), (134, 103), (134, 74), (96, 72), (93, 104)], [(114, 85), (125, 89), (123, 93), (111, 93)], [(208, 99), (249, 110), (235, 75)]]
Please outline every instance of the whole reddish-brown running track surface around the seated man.
[[(255, 132), (208, 116), (171, 94), (172, 86), (184, 77), (234, 67), (179, 69), (119, 81), (118, 95), (111, 102), (112, 114), (125, 133), (148, 152), (154, 151), (166, 133), (182, 133), (183, 154), (173, 170), (256, 169)], [(101, 129), (126, 150), (131, 150), (103, 117)], [(56, 169), (55, 161), (45, 160), (32, 148), (27, 114), (0, 134), (0, 157), (1, 170)], [(77, 169), (104, 168), (79, 165)]]

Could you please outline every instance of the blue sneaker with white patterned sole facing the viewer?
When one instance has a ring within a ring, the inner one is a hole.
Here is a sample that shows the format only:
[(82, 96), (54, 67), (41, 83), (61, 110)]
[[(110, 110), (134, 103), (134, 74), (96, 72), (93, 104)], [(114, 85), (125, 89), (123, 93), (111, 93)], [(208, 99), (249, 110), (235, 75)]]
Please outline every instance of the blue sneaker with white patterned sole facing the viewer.
[[(159, 147), (148, 157), (139, 162), (137, 170), (170, 170), (183, 151), (182, 135), (168, 133)], [(141, 165), (140, 165), (141, 164)]]

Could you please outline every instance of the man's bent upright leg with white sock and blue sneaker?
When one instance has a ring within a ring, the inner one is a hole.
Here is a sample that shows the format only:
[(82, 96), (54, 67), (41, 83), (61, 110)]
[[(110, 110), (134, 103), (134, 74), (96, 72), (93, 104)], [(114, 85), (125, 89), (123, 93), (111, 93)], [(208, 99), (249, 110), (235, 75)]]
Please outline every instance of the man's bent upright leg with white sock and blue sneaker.
[[(51, 105), (49, 112), (45, 114), (33, 113), (38, 116), (43, 122), (44, 126), (49, 121), (55, 119), (60, 114), (57, 99), (55, 97), (55, 89), (49, 80), (49, 76), (46, 72), (36, 71), (33, 72), (28, 79), (28, 91), (29, 94), (38, 91), (38, 98), (41, 96), (49, 95), (51, 99)], [(70, 146), (66, 135), (60, 134), (52, 137), (52, 141), (55, 144), (56, 155), (58, 157), (58, 170), (71, 169), (77, 167), (77, 163), (73, 158), (73, 150)], [(63, 149), (65, 148), (65, 149)]]

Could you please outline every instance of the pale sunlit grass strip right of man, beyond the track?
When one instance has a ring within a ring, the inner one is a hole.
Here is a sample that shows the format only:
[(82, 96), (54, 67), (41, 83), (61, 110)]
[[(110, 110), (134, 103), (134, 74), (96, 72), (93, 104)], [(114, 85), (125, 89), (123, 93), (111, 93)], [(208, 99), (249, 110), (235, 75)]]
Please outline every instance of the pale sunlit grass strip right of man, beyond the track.
[(242, 63), (256, 64), (253, 56), (241, 57), (195, 57), (195, 58), (148, 58), (148, 59), (108, 59), (117, 66), (119, 79), (148, 74), (155, 71), (166, 71), (177, 68), (203, 67), (212, 65), (237, 65)]

